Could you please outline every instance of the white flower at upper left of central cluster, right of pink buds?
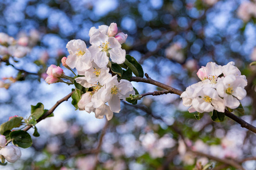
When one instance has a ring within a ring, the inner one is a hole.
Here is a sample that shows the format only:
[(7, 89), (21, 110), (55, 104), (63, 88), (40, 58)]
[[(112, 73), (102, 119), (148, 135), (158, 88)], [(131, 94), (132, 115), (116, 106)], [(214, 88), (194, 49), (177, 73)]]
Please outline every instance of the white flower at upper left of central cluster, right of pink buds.
[(77, 71), (85, 71), (92, 67), (92, 56), (90, 51), (86, 48), (86, 44), (82, 40), (71, 40), (68, 42), (66, 48), (69, 56), (66, 63), (69, 67)]

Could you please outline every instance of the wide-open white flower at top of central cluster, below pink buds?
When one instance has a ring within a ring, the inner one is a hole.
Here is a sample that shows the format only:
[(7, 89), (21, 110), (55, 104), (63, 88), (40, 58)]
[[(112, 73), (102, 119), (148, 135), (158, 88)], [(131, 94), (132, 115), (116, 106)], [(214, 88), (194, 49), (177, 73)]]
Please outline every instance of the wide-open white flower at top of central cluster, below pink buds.
[(100, 35), (92, 36), (90, 38), (90, 44), (92, 44), (89, 47), (90, 53), (92, 53), (94, 62), (98, 67), (106, 67), (109, 57), (113, 62), (118, 64), (125, 62), (126, 52), (114, 37), (108, 37), (101, 33)]

